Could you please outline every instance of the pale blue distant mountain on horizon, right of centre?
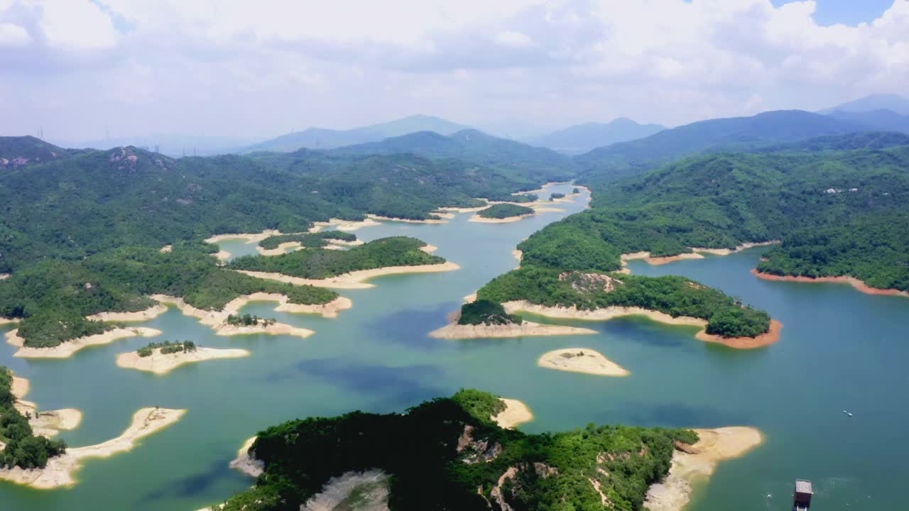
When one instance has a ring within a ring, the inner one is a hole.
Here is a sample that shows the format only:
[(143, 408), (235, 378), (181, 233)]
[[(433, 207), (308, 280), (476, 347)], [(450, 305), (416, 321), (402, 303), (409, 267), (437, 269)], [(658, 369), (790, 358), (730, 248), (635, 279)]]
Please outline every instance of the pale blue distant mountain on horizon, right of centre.
[(626, 142), (663, 131), (663, 125), (641, 125), (619, 117), (612, 122), (573, 125), (548, 135), (525, 138), (523, 142), (548, 147), (569, 155), (580, 155), (596, 147)]

